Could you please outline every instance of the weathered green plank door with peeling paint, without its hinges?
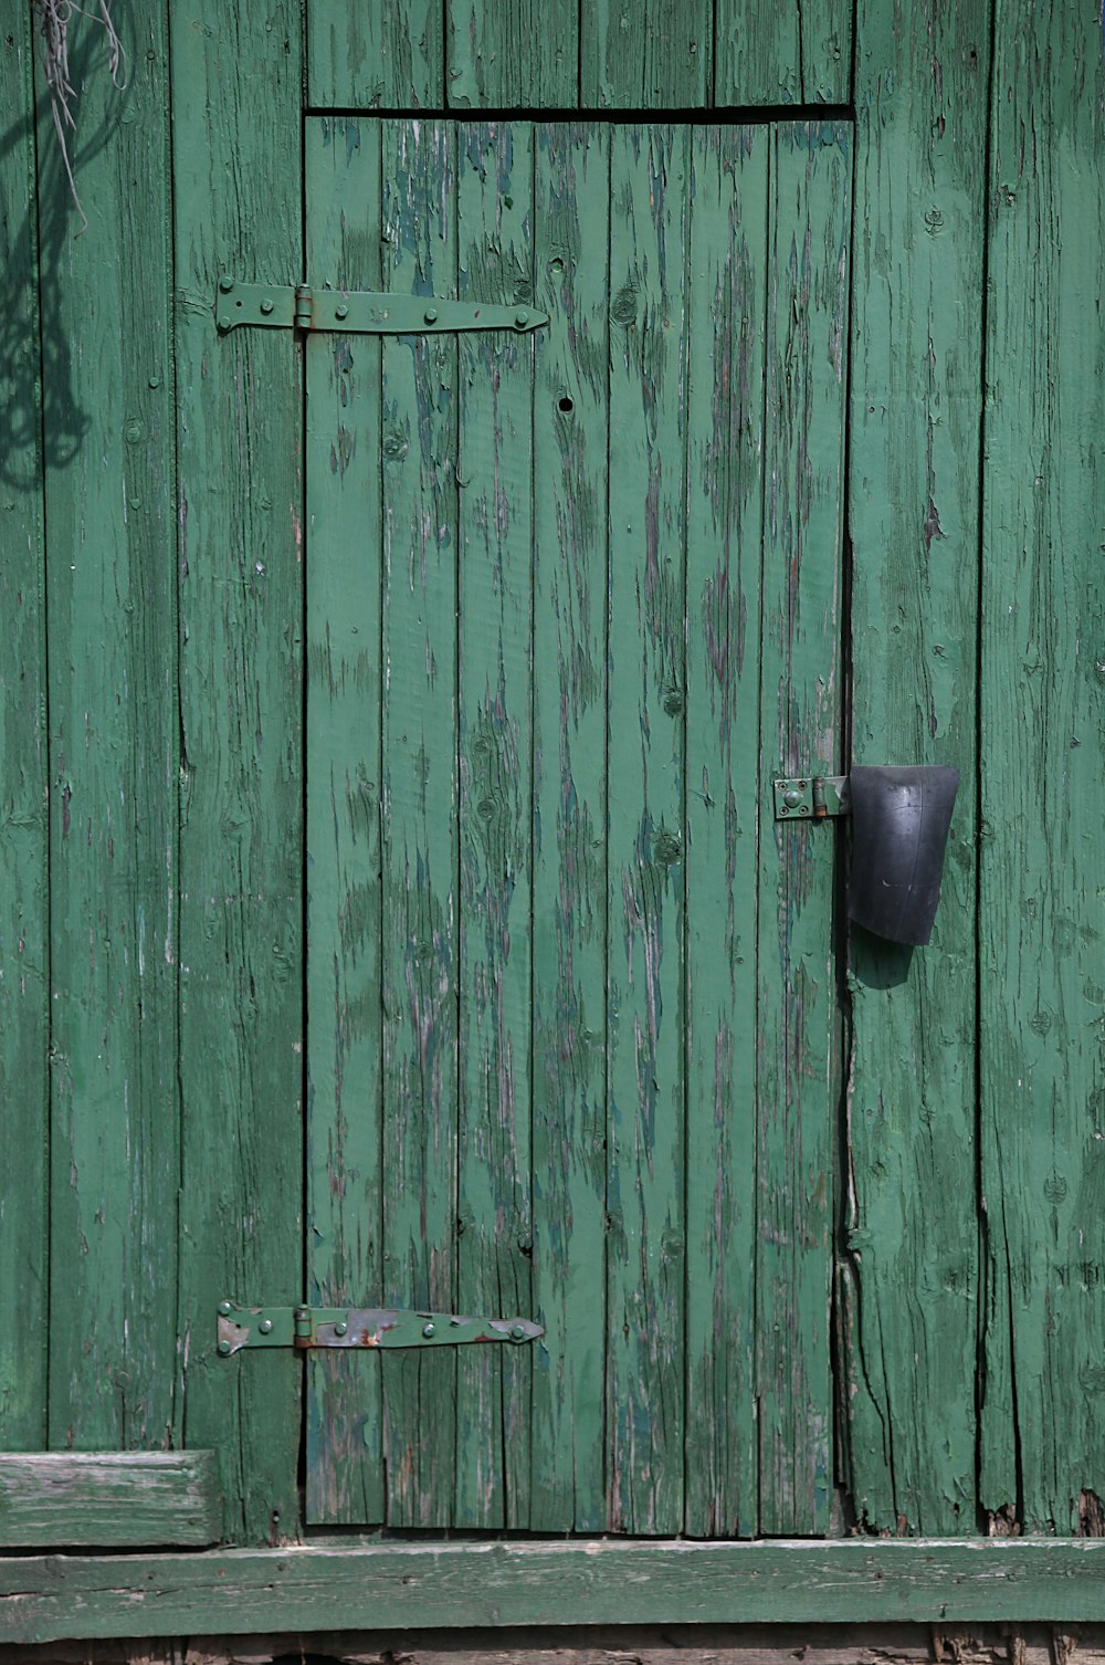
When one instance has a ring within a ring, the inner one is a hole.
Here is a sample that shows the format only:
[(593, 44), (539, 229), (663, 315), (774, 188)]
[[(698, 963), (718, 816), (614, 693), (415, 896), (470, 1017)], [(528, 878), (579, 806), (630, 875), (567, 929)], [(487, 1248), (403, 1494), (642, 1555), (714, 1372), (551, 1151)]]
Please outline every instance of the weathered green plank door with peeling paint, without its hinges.
[(310, 120), (308, 1520), (824, 1532), (839, 125)]

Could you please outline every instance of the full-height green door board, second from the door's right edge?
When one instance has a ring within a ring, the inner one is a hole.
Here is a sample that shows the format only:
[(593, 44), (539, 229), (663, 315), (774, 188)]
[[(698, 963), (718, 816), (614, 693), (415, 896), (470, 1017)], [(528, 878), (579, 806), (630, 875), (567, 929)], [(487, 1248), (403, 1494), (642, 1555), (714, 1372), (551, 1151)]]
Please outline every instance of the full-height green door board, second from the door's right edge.
[(764, 128), (694, 128), (687, 415), (686, 1530), (756, 1530)]

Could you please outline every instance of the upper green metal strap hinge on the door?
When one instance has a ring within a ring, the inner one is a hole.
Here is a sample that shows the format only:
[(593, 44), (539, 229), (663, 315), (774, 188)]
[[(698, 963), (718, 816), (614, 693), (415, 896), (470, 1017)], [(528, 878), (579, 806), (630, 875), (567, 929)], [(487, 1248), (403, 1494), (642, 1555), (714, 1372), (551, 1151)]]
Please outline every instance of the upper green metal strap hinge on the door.
[(306, 283), (238, 283), (220, 278), (215, 323), (220, 335), (238, 325), (261, 330), (333, 330), (339, 335), (449, 335), (458, 330), (511, 330), (528, 335), (549, 321), (526, 301), (493, 306), (438, 300), (436, 295), (313, 290)]

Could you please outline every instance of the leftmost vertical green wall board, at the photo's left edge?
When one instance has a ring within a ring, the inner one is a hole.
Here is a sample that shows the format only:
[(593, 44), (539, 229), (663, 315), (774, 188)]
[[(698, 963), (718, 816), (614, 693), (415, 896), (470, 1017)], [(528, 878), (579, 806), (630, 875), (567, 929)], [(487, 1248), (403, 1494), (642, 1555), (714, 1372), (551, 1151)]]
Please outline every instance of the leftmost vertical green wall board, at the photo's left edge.
[[(43, 604), (43, 433), (32, 13), (0, 35), (0, 1429), (8, 1450), (47, 1444), (47, 1332), (32, 1334), (48, 1277), (48, 967)], [(57, 250), (50, 250), (57, 255)], [(63, 346), (62, 341), (57, 343)], [(72, 406), (70, 406), (72, 410)], [(48, 436), (67, 448), (67, 406)]]

